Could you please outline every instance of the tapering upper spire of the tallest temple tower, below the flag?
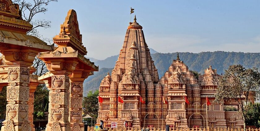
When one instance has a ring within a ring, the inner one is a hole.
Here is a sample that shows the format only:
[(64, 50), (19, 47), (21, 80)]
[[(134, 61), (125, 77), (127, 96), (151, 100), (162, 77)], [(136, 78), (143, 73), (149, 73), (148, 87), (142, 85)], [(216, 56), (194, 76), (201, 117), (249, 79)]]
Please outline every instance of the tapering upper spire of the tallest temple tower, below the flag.
[(124, 44), (120, 50), (118, 60), (115, 63), (115, 68), (112, 70), (112, 81), (114, 75), (124, 74), (132, 74), (137, 76), (139, 80), (146, 81), (144, 79), (148, 74), (151, 76), (149, 81), (158, 82), (158, 72), (151, 58), (150, 50), (145, 42), (142, 28), (143, 27), (137, 23), (135, 16), (134, 22), (129, 23)]

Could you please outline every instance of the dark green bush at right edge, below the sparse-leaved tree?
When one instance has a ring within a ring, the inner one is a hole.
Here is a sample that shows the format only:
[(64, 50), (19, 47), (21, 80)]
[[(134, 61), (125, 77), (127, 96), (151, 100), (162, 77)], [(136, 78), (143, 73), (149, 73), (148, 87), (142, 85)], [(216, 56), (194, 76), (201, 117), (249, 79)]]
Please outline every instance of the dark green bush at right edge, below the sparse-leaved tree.
[(260, 127), (260, 103), (249, 103), (246, 107), (246, 124)]

